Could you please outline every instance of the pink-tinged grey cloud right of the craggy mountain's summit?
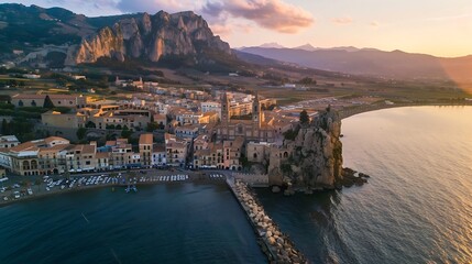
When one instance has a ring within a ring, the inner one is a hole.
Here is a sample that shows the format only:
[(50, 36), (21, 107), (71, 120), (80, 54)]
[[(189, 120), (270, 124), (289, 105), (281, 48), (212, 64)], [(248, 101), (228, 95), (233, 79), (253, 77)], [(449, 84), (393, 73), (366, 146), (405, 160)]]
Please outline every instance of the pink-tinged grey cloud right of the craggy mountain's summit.
[(282, 33), (297, 33), (315, 22), (309, 12), (282, 0), (207, 2), (201, 11), (216, 18), (229, 14), (232, 18), (250, 20), (264, 29)]

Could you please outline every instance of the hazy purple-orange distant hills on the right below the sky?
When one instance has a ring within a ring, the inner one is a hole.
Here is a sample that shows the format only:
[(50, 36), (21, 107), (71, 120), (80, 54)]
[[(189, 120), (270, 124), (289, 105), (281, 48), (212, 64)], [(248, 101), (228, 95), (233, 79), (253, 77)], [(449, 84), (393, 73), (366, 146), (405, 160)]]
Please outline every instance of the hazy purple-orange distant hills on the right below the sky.
[(245, 47), (241, 52), (322, 70), (384, 78), (452, 78), (472, 80), (472, 56), (440, 58), (402, 51), (336, 47), (308, 48)]

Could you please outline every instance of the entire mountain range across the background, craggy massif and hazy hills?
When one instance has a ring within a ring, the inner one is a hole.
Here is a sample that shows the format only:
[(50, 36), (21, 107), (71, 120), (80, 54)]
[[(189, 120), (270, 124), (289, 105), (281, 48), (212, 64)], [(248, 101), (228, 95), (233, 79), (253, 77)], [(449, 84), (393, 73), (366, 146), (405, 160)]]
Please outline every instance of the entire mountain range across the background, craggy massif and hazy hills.
[(61, 8), (13, 3), (0, 4), (0, 62), (33, 67), (138, 62), (249, 75), (271, 67), (292, 67), (382, 78), (472, 80), (472, 56), (440, 58), (310, 44), (287, 48), (277, 43), (235, 51), (194, 12), (87, 18)]

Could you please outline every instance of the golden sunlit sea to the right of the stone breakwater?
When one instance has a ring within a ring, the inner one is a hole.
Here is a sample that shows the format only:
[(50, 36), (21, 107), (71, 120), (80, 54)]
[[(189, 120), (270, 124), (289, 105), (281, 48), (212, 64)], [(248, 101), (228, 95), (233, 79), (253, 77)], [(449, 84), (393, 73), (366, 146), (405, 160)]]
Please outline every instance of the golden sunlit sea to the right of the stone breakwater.
[(472, 107), (343, 120), (344, 165), (362, 187), (283, 197), (257, 190), (312, 263), (472, 263)]

